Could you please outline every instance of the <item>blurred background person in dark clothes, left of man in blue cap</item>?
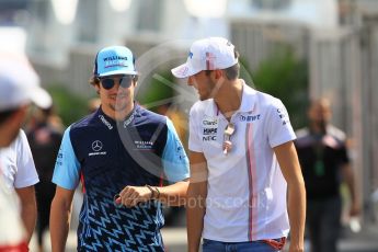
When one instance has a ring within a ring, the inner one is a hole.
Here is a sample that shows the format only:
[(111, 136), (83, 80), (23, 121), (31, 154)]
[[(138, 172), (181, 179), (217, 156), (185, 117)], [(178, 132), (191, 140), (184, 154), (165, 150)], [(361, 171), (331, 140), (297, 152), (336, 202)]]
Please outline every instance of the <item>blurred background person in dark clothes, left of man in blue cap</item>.
[(56, 124), (53, 107), (37, 111), (34, 118), (35, 122), (27, 133), (27, 139), (39, 176), (39, 183), (35, 186), (38, 209), (36, 228), (38, 249), (42, 252), (44, 251), (43, 236), (49, 225), (50, 205), (55, 195), (56, 185), (51, 182), (51, 177), (62, 138), (62, 126)]

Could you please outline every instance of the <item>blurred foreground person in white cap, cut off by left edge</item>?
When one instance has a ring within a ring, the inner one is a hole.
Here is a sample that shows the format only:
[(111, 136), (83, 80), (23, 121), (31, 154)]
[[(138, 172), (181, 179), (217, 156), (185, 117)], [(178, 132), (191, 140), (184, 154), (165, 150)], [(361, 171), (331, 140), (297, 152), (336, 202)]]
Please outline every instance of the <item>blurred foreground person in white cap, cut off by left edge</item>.
[[(51, 98), (39, 87), (37, 75), (24, 56), (0, 51), (0, 148), (7, 148), (18, 136), (22, 138), (20, 128), (31, 102), (48, 107), (51, 105)], [(18, 140), (13, 144), (18, 145), (16, 142)], [(1, 158), (0, 252), (26, 252), (31, 234), (25, 231), (19, 198), (12, 185), (22, 187), (30, 182), (19, 180), (12, 174), (14, 170), (7, 170), (7, 162)], [(31, 179), (33, 180), (35, 177)]]

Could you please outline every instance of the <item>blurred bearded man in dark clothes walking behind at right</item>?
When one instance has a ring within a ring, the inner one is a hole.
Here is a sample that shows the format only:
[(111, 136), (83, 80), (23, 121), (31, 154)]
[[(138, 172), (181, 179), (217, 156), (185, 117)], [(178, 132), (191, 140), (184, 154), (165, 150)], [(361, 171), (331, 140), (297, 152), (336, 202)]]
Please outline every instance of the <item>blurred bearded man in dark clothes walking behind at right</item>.
[(351, 194), (350, 215), (359, 213), (354, 173), (347, 154), (345, 134), (331, 125), (330, 102), (319, 99), (308, 111), (309, 127), (299, 129), (295, 141), (307, 191), (307, 229), (312, 252), (336, 252), (341, 230), (345, 182)]

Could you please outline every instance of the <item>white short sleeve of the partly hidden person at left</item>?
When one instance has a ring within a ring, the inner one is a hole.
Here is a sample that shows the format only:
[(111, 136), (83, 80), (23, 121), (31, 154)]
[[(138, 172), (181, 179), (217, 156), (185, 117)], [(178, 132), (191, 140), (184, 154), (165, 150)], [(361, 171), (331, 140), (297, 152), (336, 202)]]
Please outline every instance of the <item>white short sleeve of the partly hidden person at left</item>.
[(23, 130), (20, 130), (16, 141), (15, 154), (18, 172), (14, 177), (14, 187), (23, 188), (38, 183), (39, 179), (35, 169), (31, 147), (28, 146), (26, 135)]

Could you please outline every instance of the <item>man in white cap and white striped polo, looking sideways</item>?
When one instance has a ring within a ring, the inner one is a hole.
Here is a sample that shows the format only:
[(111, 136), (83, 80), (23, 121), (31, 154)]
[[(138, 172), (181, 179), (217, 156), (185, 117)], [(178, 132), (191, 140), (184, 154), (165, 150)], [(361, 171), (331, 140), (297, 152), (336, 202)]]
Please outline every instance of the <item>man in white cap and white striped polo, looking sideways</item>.
[[(190, 113), (188, 251), (303, 251), (305, 183), (284, 104), (239, 79), (221, 37), (193, 43), (174, 69), (199, 95)], [(286, 192), (288, 195), (286, 195)]]

